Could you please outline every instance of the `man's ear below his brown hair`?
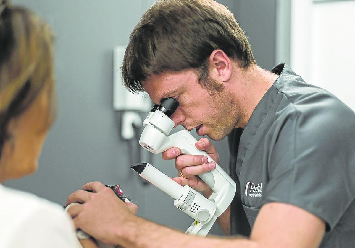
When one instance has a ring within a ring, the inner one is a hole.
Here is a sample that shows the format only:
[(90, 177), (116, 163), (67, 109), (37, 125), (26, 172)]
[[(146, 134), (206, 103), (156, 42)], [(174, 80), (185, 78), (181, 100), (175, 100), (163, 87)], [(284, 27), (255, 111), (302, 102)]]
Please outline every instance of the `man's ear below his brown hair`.
[(214, 50), (209, 56), (208, 62), (209, 68), (211, 68), (212, 71), (215, 69), (215, 75), (223, 82), (230, 79), (232, 74), (232, 63), (225, 52), (220, 49)]

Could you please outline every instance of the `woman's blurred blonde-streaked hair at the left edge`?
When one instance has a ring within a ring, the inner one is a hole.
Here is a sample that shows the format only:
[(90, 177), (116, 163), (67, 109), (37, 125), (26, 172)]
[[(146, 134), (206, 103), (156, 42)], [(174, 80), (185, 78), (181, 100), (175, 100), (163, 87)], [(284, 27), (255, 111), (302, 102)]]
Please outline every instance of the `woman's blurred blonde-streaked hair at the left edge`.
[(37, 15), (0, 0), (0, 152), (7, 124), (20, 115), (44, 85), (54, 96), (53, 40)]

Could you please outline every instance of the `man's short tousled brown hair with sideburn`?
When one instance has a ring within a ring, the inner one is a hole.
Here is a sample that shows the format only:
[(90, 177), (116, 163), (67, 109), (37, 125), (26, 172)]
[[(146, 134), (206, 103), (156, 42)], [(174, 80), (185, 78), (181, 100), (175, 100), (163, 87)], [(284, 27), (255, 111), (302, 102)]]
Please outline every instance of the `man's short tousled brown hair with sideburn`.
[(167, 71), (196, 69), (208, 88), (208, 57), (223, 50), (243, 69), (256, 63), (248, 39), (222, 4), (214, 0), (160, 0), (133, 29), (122, 65), (122, 80), (132, 92)]

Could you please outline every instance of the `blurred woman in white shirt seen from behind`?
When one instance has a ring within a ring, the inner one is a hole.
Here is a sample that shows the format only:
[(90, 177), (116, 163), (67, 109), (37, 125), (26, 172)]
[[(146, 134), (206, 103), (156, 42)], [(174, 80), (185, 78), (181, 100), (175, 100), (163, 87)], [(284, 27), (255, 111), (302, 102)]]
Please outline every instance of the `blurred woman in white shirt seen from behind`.
[[(52, 43), (36, 15), (0, 0), (0, 183), (37, 169), (56, 112)], [(59, 205), (0, 184), (0, 247), (78, 246)]]

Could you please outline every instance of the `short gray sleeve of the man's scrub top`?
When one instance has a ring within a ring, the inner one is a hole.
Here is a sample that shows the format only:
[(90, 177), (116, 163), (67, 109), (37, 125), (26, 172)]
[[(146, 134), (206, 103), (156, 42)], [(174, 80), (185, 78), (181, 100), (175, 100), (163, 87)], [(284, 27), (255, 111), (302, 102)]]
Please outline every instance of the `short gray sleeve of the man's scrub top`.
[(340, 101), (304, 103), (280, 113), (271, 139), (263, 204), (301, 207), (332, 230), (355, 198), (355, 115)]

